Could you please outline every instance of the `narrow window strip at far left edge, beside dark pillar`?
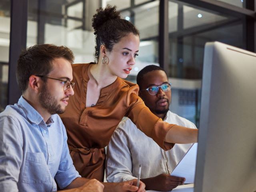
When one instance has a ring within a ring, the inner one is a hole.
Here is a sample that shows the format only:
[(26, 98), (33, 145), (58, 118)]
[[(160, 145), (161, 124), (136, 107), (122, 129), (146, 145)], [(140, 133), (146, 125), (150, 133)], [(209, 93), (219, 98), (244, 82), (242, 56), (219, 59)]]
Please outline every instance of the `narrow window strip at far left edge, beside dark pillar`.
[(7, 105), (10, 47), (10, 1), (0, 1), (0, 112)]

